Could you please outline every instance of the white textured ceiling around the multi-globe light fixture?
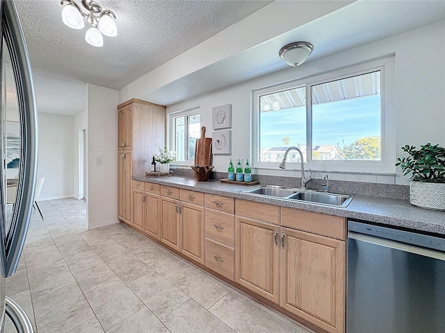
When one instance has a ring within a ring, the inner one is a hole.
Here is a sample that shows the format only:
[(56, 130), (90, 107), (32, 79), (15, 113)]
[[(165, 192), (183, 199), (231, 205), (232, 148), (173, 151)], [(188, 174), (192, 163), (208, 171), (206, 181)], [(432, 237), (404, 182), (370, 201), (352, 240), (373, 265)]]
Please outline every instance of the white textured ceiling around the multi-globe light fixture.
[[(80, 0), (76, 2), (81, 4)], [(120, 89), (270, 3), (258, 0), (97, 2), (102, 9), (115, 12), (118, 26), (118, 36), (104, 36), (104, 46), (100, 48), (85, 42), (87, 28), (74, 30), (63, 24), (59, 0), (15, 0), (29, 49), (40, 111), (76, 114), (79, 110), (74, 112), (72, 108), (79, 105), (71, 103), (67, 110), (61, 110), (63, 105), (55, 98), (63, 96), (63, 99), (78, 101), (75, 92), (65, 89), (68, 85), (73, 85), (76, 92), (82, 88), (75, 83)], [(49, 91), (54, 89), (51, 83), (57, 91)], [(54, 105), (48, 104), (48, 99), (52, 99)], [(86, 105), (86, 96), (82, 103)]]

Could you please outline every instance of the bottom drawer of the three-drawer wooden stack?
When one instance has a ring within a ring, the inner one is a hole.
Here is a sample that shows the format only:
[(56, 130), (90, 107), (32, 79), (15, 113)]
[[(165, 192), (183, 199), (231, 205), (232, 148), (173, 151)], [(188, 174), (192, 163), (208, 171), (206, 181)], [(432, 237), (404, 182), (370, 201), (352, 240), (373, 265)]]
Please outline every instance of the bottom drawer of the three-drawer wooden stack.
[(234, 281), (235, 250), (206, 238), (206, 266)]

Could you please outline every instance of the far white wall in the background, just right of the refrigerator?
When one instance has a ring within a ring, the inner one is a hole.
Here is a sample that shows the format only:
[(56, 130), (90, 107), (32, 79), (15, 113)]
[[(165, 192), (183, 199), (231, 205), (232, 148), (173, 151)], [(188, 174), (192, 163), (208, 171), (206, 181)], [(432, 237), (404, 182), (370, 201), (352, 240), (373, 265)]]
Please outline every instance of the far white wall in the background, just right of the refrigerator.
[(40, 112), (38, 177), (44, 177), (39, 200), (73, 196), (73, 117)]

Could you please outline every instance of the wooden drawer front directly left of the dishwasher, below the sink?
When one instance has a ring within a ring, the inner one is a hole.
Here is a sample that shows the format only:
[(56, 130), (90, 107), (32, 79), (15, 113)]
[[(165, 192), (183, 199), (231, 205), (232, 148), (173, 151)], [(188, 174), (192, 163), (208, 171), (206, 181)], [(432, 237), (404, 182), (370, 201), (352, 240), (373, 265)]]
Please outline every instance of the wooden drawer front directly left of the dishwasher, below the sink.
[(344, 217), (282, 207), (281, 225), (346, 240), (346, 219)]

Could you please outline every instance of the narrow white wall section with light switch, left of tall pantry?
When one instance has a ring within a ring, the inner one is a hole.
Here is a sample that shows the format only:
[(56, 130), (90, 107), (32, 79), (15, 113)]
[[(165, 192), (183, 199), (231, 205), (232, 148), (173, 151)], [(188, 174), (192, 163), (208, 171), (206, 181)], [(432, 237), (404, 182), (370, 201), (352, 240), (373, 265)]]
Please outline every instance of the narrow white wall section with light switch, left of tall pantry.
[(118, 96), (118, 90), (88, 84), (88, 229), (118, 222)]

